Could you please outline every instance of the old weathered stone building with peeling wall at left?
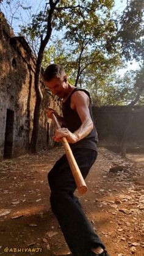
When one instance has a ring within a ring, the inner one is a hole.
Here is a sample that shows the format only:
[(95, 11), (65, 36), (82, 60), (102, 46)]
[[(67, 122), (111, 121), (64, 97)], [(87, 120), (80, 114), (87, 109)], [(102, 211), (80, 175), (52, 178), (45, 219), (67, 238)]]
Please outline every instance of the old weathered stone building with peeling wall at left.
[[(31, 141), (35, 108), (35, 58), (24, 37), (15, 37), (1, 15), (0, 22), (0, 158), (26, 153)], [(43, 91), (38, 149), (51, 144), (52, 125), (46, 108), (59, 101)]]

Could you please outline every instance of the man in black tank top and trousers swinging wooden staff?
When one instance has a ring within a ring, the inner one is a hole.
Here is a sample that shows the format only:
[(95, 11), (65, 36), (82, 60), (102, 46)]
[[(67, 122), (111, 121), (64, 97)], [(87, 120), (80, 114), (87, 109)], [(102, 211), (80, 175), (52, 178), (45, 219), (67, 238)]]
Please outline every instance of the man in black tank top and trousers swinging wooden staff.
[[(48, 117), (56, 114), (66, 128), (56, 130), (54, 141), (66, 137), (73, 151), (74, 158), (87, 177), (90, 167), (97, 157), (96, 128), (93, 125), (90, 95), (86, 90), (71, 86), (67, 75), (60, 65), (49, 65), (44, 73), (45, 86), (54, 95), (62, 98), (63, 117), (54, 109), (48, 110)], [(59, 221), (68, 247), (74, 256), (109, 256), (104, 244), (88, 222), (81, 204), (74, 191), (76, 183), (71, 174), (67, 157), (63, 155), (48, 174), (51, 188), (51, 208)]]

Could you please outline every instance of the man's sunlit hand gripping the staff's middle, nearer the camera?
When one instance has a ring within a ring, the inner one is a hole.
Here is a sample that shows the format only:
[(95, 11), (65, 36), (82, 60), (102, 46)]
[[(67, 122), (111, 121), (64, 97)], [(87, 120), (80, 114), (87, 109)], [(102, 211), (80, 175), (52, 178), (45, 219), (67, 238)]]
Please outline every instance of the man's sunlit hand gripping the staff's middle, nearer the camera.
[(74, 133), (71, 133), (67, 128), (59, 128), (54, 134), (54, 141), (59, 142), (62, 140), (62, 137), (66, 137), (69, 143), (76, 143), (77, 136)]

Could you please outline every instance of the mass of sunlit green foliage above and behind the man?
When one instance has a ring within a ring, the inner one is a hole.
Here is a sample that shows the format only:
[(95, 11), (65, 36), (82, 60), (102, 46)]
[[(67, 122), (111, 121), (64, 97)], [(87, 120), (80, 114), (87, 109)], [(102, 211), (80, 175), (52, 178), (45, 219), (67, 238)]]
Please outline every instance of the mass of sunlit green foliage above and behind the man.
[[(54, 39), (43, 58), (43, 68), (54, 62), (62, 64), (70, 82), (76, 81), (78, 86), (90, 90), (93, 103), (99, 106), (131, 102), (139, 90), (135, 84), (136, 74), (130, 72), (116, 78), (115, 71), (123, 65), (123, 60), (144, 57), (143, 0), (128, 0), (122, 15), (115, 13), (115, 19), (112, 16), (114, 2), (59, 1), (52, 16)], [(21, 33), (37, 51), (48, 29), (49, 10), (48, 3), (45, 9), (32, 15), (28, 26), (21, 26)], [(37, 38), (39, 42), (35, 42)]]

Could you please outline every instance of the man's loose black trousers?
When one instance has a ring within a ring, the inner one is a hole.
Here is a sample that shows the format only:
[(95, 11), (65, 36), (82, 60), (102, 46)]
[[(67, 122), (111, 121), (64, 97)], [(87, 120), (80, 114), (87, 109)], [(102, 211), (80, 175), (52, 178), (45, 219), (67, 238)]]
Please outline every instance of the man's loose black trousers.
[[(94, 150), (76, 148), (73, 150), (74, 158), (81, 170), (82, 176), (87, 177), (97, 157)], [(51, 208), (59, 221), (68, 247), (74, 256), (95, 255), (91, 249), (104, 244), (88, 222), (81, 204), (73, 195), (76, 183), (71, 174), (67, 157), (63, 155), (48, 174), (51, 188)]]

